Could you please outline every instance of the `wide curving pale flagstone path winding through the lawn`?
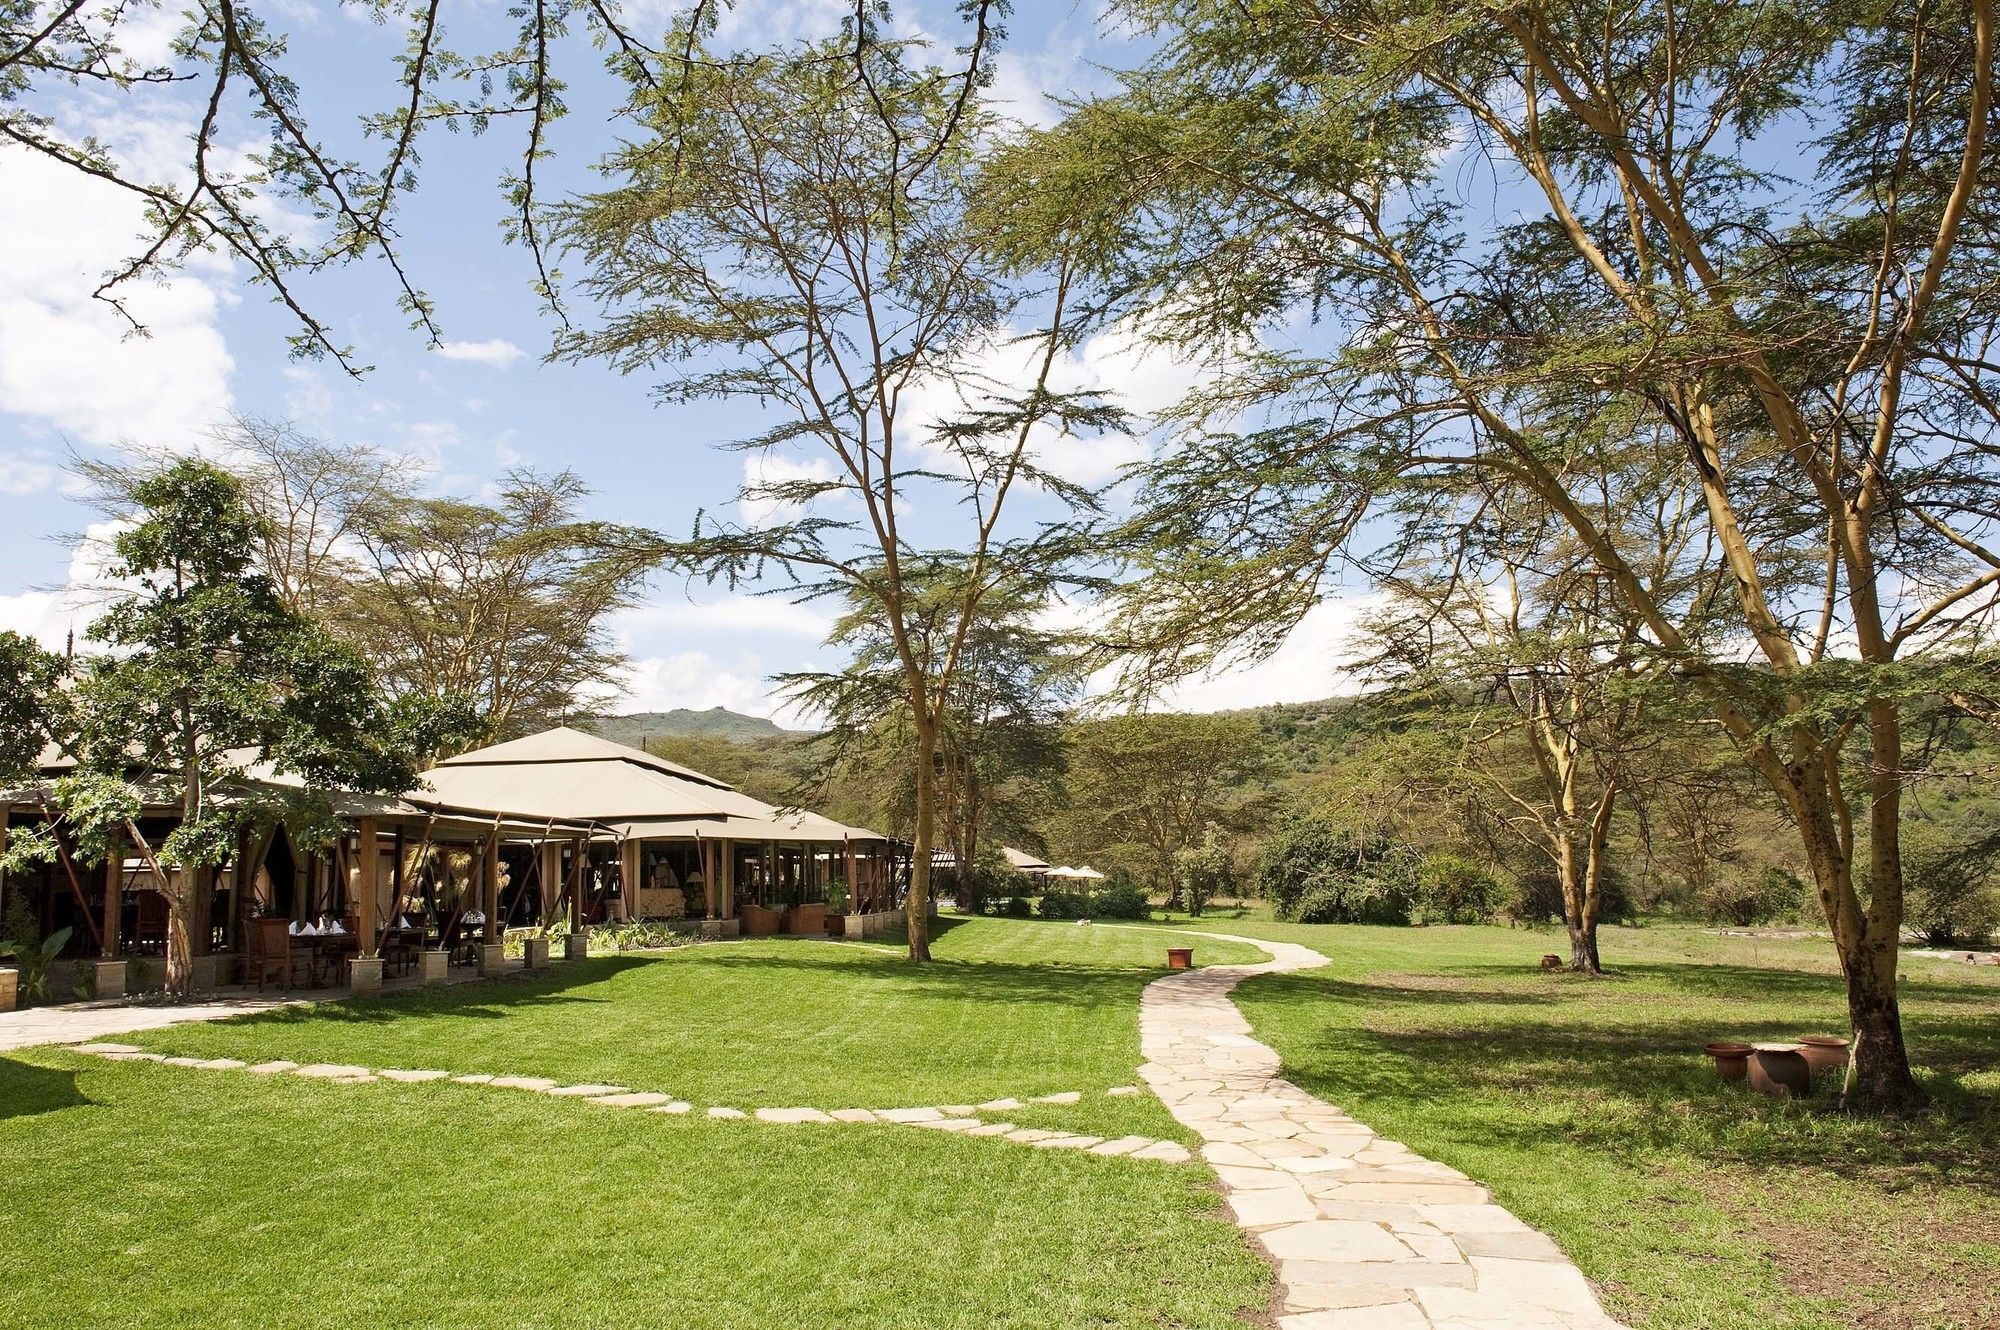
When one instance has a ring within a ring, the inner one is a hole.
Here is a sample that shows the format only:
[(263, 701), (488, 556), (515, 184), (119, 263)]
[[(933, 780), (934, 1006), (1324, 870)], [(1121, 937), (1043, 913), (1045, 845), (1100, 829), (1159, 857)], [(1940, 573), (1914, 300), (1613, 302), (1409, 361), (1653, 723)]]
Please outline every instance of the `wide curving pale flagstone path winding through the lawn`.
[(1248, 942), (1256, 966), (1182, 970), (1140, 998), (1140, 1076), (1202, 1140), (1236, 1222), (1278, 1266), (1280, 1330), (1618, 1330), (1582, 1272), (1466, 1174), (1318, 1100), (1250, 1036), (1230, 990), (1326, 964)]

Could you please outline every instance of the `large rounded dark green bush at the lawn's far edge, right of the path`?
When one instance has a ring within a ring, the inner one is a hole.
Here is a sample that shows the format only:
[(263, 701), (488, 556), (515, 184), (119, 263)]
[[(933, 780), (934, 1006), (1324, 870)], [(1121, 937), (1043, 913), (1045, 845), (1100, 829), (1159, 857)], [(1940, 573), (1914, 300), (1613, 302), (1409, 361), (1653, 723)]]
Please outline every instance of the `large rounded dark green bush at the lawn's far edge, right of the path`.
[(1318, 814), (1286, 822), (1258, 858), (1256, 886), (1278, 918), (1302, 924), (1408, 924), (1416, 850), (1334, 828)]

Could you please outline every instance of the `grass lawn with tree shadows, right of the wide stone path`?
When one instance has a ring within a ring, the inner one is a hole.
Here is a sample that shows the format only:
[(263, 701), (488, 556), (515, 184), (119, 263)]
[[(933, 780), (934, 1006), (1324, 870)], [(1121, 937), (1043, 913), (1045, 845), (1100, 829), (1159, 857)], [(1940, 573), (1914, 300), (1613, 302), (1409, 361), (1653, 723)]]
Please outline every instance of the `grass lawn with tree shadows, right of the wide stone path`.
[(1642, 1330), (2000, 1324), (2000, 974), (1910, 958), (1936, 1100), (1848, 1118), (1716, 1080), (1712, 1038), (1846, 1028), (1826, 942), (1608, 930), (1604, 980), (1546, 976), (1504, 928), (1198, 926), (1304, 942), (1326, 970), (1238, 990), (1288, 1074), (1488, 1182)]

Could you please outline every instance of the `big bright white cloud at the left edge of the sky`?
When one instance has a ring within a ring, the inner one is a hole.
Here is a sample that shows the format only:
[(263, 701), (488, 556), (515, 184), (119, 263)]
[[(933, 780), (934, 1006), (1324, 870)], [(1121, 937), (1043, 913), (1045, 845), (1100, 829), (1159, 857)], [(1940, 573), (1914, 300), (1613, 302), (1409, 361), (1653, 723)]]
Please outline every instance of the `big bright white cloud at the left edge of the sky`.
[(130, 326), (92, 290), (132, 254), (134, 198), (20, 150), (0, 150), (0, 410), (118, 446), (194, 446), (228, 414), (226, 294), (194, 270), (124, 288)]

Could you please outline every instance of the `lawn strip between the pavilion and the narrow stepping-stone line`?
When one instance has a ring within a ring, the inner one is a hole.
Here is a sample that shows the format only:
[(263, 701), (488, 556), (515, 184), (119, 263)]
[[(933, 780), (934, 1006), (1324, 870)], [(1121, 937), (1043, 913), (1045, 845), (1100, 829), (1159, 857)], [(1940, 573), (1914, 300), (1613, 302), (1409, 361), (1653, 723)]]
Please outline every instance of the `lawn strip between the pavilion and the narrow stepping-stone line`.
[[(1138, 1068), (1138, 990), (1164, 938), (962, 920), (938, 960), (882, 946), (746, 942), (554, 966), (546, 976), (286, 1008), (142, 1036), (194, 1056), (436, 1066), (604, 1080), (738, 1108), (978, 1104), (1100, 1092), (1024, 1126), (1186, 1136), (1150, 1096), (1108, 1100)], [(1202, 944), (1198, 960), (1262, 960)]]

